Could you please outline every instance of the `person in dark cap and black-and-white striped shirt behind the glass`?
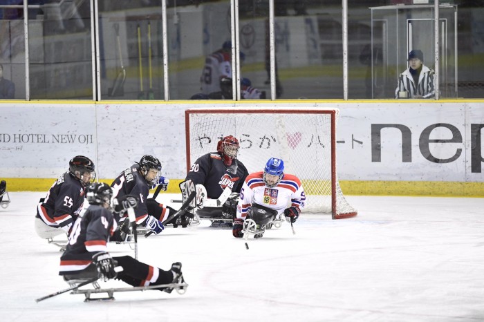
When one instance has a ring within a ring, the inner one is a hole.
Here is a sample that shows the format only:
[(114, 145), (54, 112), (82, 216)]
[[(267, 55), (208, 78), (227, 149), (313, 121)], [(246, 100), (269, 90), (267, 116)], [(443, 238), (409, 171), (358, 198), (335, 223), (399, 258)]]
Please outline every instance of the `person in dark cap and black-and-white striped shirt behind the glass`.
[(395, 98), (434, 97), (434, 70), (423, 64), (422, 50), (409, 53), (409, 68), (398, 77)]

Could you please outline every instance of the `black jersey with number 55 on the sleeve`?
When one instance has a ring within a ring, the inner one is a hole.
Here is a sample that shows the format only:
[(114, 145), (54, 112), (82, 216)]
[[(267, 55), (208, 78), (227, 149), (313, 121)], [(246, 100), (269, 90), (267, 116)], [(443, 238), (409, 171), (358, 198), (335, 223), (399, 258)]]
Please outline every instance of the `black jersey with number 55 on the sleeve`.
[(71, 225), (82, 210), (85, 194), (81, 181), (66, 172), (55, 180), (44, 201), (37, 206), (37, 217), (52, 227)]

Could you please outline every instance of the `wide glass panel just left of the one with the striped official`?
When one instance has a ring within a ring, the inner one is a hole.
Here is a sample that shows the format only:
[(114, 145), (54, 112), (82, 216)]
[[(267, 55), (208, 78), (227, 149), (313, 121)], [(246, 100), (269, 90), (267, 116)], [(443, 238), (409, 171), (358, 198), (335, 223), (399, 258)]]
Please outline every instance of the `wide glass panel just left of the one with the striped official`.
[(275, 0), (277, 97), (343, 97), (342, 1)]

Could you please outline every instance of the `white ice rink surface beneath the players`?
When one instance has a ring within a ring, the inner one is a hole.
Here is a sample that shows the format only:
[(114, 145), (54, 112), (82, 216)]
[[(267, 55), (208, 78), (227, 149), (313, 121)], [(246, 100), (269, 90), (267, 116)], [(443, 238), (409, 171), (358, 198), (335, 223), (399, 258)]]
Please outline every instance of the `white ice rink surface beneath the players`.
[(285, 223), (250, 249), (210, 222), (167, 228), (139, 238), (138, 259), (162, 269), (182, 262), (186, 294), (84, 303), (65, 293), (36, 303), (68, 286), (59, 249), (33, 227), (44, 195), (10, 193), (0, 208), (1, 321), (484, 321), (484, 198), (349, 196), (357, 217), (302, 214), (295, 235)]

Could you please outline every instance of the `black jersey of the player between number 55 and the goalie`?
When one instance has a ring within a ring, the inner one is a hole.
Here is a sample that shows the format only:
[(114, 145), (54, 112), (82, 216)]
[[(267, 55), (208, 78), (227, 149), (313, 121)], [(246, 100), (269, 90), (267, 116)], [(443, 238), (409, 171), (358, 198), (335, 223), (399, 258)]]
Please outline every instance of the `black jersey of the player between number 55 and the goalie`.
[(111, 183), (114, 197), (122, 197), (131, 194), (139, 198), (138, 207), (134, 209), (136, 223), (140, 225), (148, 218), (146, 200), (149, 195), (149, 187), (145, 178), (141, 175), (140, 165), (135, 163), (122, 171), (120, 176)]

